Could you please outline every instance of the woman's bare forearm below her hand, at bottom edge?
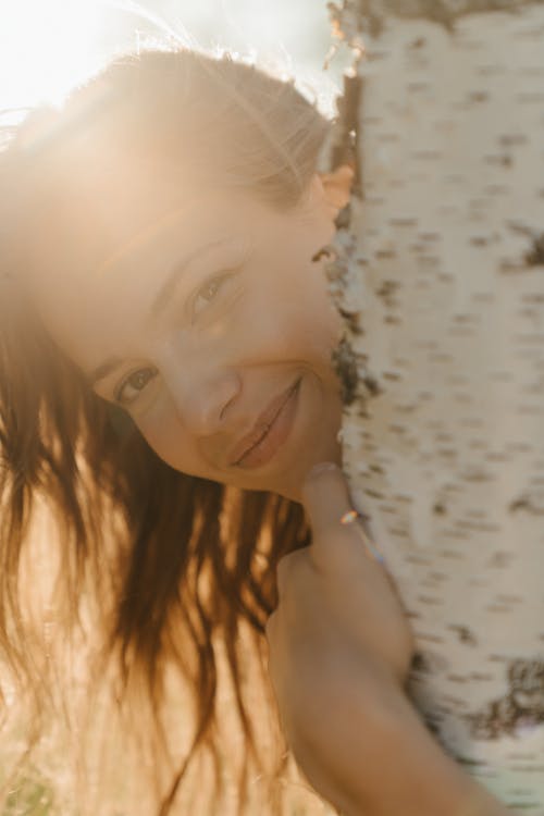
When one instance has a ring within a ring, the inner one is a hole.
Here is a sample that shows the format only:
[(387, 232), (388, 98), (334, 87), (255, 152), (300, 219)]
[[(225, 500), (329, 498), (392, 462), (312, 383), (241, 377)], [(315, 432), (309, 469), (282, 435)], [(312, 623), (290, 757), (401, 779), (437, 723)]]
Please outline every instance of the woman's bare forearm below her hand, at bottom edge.
[(400, 689), (383, 700), (386, 713), (372, 718), (375, 733), (366, 734), (359, 774), (337, 791), (334, 803), (344, 816), (509, 813), (443, 751)]

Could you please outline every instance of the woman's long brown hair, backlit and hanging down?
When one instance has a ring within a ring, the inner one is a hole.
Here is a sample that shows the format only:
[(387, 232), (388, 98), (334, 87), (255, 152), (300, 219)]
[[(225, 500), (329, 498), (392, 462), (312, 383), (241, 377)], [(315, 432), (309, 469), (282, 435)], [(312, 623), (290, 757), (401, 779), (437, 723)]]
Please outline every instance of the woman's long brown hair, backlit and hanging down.
[[(107, 679), (125, 722), (132, 719), (140, 737), (146, 729), (160, 816), (172, 812), (202, 752), (215, 771), (214, 812), (226, 813), (221, 764), (236, 739), (219, 728), (219, 651), (243, 744), (235, 812), (247, 812), (251, 779), (270, 772), (245, 698), (247, 665), (257, 662), (265, 676), (275, 566), (309, 543), (309, 530), (301, 508), (285, 498), (173, 470), (128, 418), (89, 392), (17, 297), (23, 236), (32, 235), (51, 190), (73, 191), (78, 168), (97, 154), (111, 159), (108, 171), (97, 162), (98, 174), (114, 173), (115, 157), (127, 154), (135, 162), (160, 157), (175, 172), (198, 145), (200, 177), (289, 208), (317, 169), (330, 126), (293, 82), (254, 65), (189, 50), (144, 51), (115, 59), (61, 110), (30, 113), (0, 156), (9, 211), (0, 233), (0, 646), (18, 693), (33, 701), (28, 744), (36, 744), (60, 669), (51, 638), (25, 609), (23, 578), (32, 574), (25, 553), (32, 566), (32, 542), (47, 529), (53, 577), (39, 614), (47, 607), (61, 651), (77, 642), (76, 631), (81, 644), (92, 642), (87, 698)], [(193, 698), (183, 755), (164, 714), (172, 669)], [(286, 768), (282, 751), (276, 758), (273, 775)], [(267, 795), (280, 812), (281, 798)]]

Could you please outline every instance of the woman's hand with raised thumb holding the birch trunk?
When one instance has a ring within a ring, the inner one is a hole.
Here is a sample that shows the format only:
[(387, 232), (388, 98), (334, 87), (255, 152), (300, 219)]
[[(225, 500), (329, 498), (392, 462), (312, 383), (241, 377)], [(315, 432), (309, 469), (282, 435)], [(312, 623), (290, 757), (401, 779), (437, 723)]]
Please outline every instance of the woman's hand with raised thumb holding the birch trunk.
[[(284, 556), (267, 625), (269, 672), (284, 732), (313, 787), (336, 805), (401, 695), (413, 641), (394, 584), (363, 544), (333, 466), (304, 487), (309, 547)], [(379, 542), (378, 542), (379, 544)]]

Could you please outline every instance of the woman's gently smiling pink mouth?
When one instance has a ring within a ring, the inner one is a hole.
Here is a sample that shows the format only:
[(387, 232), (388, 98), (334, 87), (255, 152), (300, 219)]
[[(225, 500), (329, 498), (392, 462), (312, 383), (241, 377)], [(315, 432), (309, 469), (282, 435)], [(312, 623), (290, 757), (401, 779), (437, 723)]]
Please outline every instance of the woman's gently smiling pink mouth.
[(232, 462), (233, 465), (244, 469), (258, 468), (274, 456), (290, 433), (298, 406), (300, 382), (301, 378), (298, 378), (296, 383), (267, 409), (265, 413), (272, 412), (272, 418), (261, 428), (257, 438), (254, 432), (252, 441), (247, 437), (246, 442), (243, 440), (242, 446), (245, 444), (246, 448), (242, 456)]

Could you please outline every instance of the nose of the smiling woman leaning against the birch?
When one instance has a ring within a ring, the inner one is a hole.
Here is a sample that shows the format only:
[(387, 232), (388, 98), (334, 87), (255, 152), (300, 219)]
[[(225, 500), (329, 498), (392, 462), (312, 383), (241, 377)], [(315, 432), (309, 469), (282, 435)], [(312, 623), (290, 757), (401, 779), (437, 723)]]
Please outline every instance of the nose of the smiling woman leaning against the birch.
[(177, 371), (168, 385), (181, 421), (196, 436), (223, 430), (242, 390), (239, 375), (231, 369)]

